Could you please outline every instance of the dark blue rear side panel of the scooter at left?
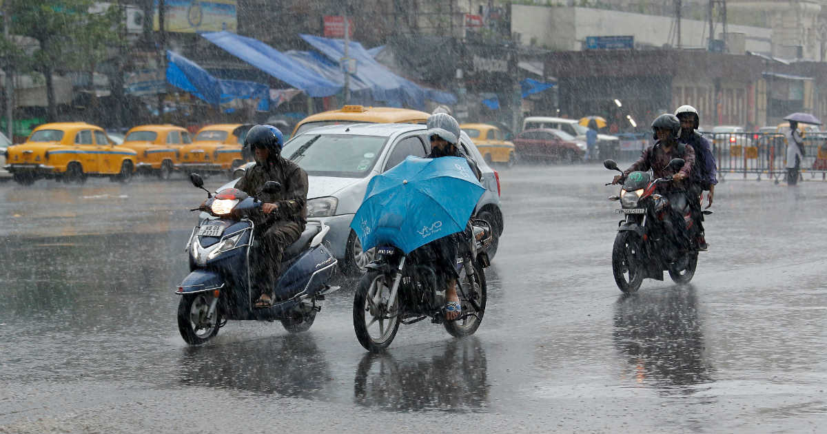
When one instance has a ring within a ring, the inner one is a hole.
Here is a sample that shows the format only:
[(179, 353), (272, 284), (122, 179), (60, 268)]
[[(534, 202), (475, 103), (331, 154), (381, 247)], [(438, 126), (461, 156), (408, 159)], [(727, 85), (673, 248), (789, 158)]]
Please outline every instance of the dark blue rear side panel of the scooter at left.
[(276, 298), (286, 300), (296, 295), (313, 295), (324, 288), (336, 272), (337, 260), (323, 244), (305, 250), (287, 269), (275, 285)]

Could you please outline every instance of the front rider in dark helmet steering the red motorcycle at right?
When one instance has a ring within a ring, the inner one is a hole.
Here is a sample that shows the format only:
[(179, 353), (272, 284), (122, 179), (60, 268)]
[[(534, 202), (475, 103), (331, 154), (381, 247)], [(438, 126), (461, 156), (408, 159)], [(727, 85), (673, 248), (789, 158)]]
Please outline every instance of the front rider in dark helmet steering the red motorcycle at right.
[[(692, 149), (691, 145), (678, 143), (677, 139), (681, 136), (681, 122), (671, 113), (665, 113), (655, 118), (655, 121), (652, 122), (652, 130), (656, 140), (655, 144), (643, 150), (643, 155), (629, 166), (629, 169), (626, 169), (623, 174), (615, 175), (612, 184), (618, 184), (635, 171), (645, 172), (652, 169), (655, 178), (666, 178), (672, 175), (672, 183), (660, 184), (658, 188), (661, 193), (669, 198), (669, 203), (673, 205), (670, 207), (672, 209), (672, 225), (676, 227), (673, 235), (683, 236), (685, 237), (684, 241), (688, 241), (689, 234), (681, 230), (686, 227), (683, 224), (683, 216), (674, 205), (681, 203), (681, 200), (686, 200), (686, 190), (683, 185), (685, 185), (684, 181), (688, 181), (692, 172), (692, 165), (695, 164), (695, 150)], [(669, 162), (676, 158), (684, 160), (683, 167), (677, 172), (669, 166)], [(680, 240), (673, 241), (680, 242)]]

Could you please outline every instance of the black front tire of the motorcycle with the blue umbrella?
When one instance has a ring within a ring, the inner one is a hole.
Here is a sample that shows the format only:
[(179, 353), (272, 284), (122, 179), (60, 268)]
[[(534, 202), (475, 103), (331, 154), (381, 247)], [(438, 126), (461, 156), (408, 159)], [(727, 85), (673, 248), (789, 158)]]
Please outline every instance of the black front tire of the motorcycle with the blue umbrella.
[[(367, 321), (369, 318), (370, 321), (374, 321), (375, 319), (370, 315), (368, 298), (377, 290), (380, 291), (380, 295), (385, 295), (385, 297), (390, 296), (390, 287), (392, 284), (393, 282), (390, 276), (380, 271), (370, 269), (359, 279), (359, 284), (356, 286), (356, 293), (353, 295), (353, 330), (356, 331), (356, 339), (361, 346), (365, 347), (365, 349), (371, 353), (385, 351), (385, 349), (390, 346), (390, 342), (394, 341), (396, 332), (399, 331), (399, 316), (378, 321), (380, 324), (380, 336), (370, 336), (370, 330), (368, 329), (369, 324)], [(391, 306), (394, 303), (399, 303), (399, 293), (396, 295), (396, 300), (390, 301)], [(387, 306), (387, 300), (385, 300), (385, 303), (381, 303), (380, 301), (380, 308), (383, 311), (380, 312), (381, 316), (384, 315), (385, 311), (389, 308), (389, 306)], [(385, 322), (388, 324), (385, 325)], [(376, 322), (373, 322), (370, 325), (375, 325), (375, 323)]]

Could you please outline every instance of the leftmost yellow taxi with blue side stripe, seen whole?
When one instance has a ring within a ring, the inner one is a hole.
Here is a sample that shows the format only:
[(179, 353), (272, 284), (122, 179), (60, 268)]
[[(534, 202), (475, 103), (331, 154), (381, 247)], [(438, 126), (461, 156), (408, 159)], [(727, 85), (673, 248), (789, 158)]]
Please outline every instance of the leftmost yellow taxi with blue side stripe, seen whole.
[(26, 143), (9, 147), (6, 162), (18, 184), (42, 178), (80, 184), (90, 175), (126, 182), (135, 171), (137, 153), (114, 145), (100, 126), (58, 122), (36, 127)]

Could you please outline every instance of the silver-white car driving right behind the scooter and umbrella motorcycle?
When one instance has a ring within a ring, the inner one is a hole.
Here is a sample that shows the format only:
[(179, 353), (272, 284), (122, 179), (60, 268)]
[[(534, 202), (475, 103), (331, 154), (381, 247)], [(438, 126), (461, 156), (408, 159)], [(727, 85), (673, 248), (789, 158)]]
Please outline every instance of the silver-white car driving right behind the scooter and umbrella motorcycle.
[[(361, 243), (350, 224), (365, 197), (368, 182), (408, 155), (424, 156), (430, 141), (424, 125), (359, 124), (324, 126), (294, 136), (284, 144), (282, 155), (294, 160), (308, 173), (308, 221), (322, 221), (330, 232), (325, 238), (349, 274), (361, 274), (373, 260), (374, 252), (362, 252)], [(500, 175), (485, 163), (480, 151), (465, 132), (461, 146), (480, 166), (485, 193), (477, 203), (475, 214), (494, 229), (494, 241), (488, 255), (494, 258), (503, 231), (500, 212)], [(255, 165), (244, 165), (237, 174)], [(234, 186), (236, 180), (218, 190)], [(218, 191), (217, 190), (217, 191)], [(203, 214), (206, 217), (207, 214)]]

